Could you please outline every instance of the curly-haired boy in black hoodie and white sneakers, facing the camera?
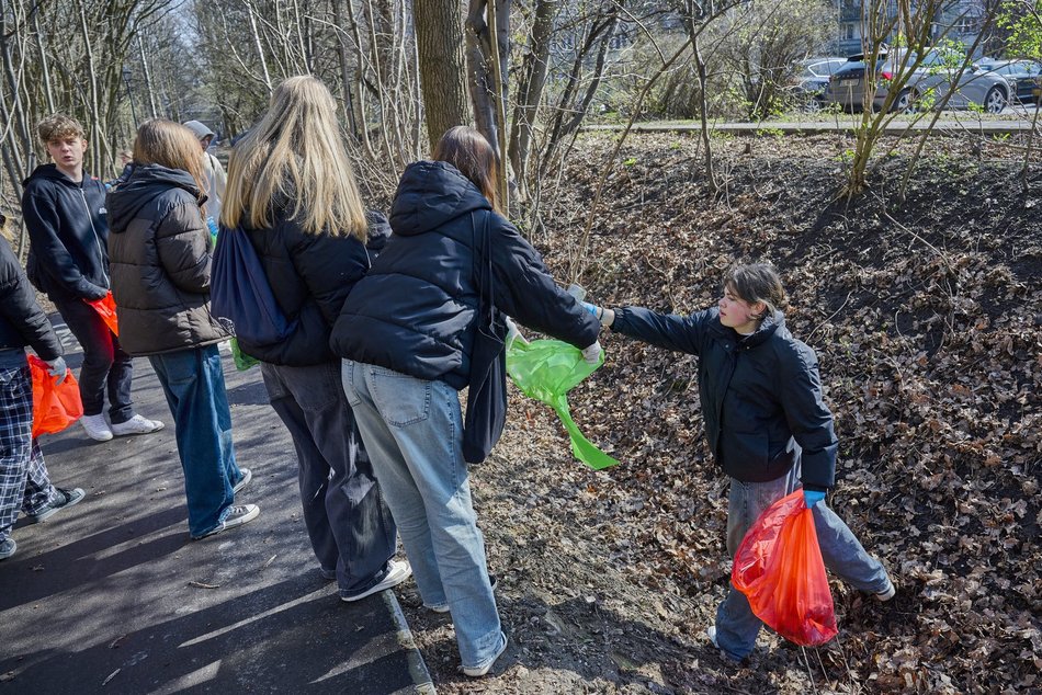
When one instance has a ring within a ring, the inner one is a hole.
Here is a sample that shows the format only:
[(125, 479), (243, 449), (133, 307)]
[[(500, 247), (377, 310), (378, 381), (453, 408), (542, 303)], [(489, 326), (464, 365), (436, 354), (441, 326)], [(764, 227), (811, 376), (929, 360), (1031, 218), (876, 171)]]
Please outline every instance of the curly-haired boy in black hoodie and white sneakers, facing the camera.
[[(54, 163), (37, 167), (25, 180), (22, 215), (31, 242), (27, 271), (83, 348), (80, 423), (98, 442), (161, 430), (161, 422), (134, 413), (131, 355), (87, 304), (109, 294), (109, 223), (105, 185), (83, 172), (83, 127), (58, 114), (41, 121), (36, 132)], [(102, 412), (106, 389), (111, 426)]]

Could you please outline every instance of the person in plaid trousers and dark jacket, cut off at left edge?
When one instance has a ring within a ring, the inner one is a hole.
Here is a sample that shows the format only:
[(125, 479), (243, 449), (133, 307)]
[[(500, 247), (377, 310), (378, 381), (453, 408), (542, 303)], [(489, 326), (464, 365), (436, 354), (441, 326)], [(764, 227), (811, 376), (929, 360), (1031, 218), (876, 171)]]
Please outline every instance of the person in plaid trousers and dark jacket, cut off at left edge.
[[(0, 229), (4, 221), (0, 215)], [(10, 533), (20, 510), (35, 524), (83, 499), (79, 488), (63, 490), (50, 483), (33, 438), (33, 379), (25, 345), (47, 363), (52, 376), (65, 378), (61, 344), (0, 236), (0, 560), (18, 548)]]

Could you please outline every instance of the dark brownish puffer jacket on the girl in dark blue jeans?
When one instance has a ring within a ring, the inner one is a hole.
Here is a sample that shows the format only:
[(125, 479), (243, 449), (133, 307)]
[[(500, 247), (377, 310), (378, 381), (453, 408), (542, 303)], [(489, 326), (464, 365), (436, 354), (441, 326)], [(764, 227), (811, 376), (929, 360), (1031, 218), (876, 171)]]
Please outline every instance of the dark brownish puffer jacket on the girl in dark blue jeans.
[(120, 344), (132, 355), (201, 348), (229, 338), (209, 312), (213, 241), (186, 171), (135, 167), (109, 194), (112, 295)]

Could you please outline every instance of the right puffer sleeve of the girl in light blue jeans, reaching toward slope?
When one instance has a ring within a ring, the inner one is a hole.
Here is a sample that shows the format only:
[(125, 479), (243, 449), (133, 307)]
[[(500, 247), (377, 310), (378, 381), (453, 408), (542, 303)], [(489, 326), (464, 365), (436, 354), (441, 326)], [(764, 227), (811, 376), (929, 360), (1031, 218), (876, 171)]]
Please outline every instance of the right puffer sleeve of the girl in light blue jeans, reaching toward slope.
[(495, 213), (488, 215), (496, 308), (580, 350), (592, 345), (600, 333), (600, 322), (557, 286), (539, 252), (513, 225)]

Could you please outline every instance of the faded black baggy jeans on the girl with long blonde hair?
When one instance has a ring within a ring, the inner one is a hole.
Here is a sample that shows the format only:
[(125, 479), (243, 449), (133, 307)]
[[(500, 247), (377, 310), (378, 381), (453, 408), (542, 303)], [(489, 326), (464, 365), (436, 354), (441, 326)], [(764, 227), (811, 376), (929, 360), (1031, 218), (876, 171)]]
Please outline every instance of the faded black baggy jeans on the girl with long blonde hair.
[(261, 363), (271, 407), (293, 436), (304, 523), (325, 570), (337, 570), (340, 594), (383, 580), (397, 528), (362, 446), (340, 385), (340, 361), (308, 367)]

